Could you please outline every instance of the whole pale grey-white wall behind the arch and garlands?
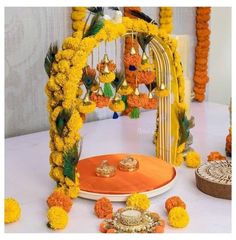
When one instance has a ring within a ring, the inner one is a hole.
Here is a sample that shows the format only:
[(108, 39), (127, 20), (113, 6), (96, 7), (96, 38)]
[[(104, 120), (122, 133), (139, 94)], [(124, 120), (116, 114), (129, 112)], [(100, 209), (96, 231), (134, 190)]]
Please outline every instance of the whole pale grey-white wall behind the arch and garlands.
[[(145, 7), (153, 18), (158, 8)], [(5, 130), (6, 137), (48, 129), (44, 86), (47, 76), (44, 57), (53, 41), (59, 45), (70, 35), (71, 8), (5, 9)], [(207, 99), (228, 103), (231, 91), (231, 9), (213, 8), (210, 51), (210, 83)], [(173, 34), (190, 36), (189, 78), (192, 78), (195, 47), (195, 8), (174, 8)], [(110, 46), (110, 57), (114, 49)], [(217, 57), (218, 56), (218, 57)], [(227, 66), (225, 64), (227, 63)], [(222, 94), (221, 94), (222, 93)], [(112, 116), (108, 109), (97, 110), (90, 120)]]

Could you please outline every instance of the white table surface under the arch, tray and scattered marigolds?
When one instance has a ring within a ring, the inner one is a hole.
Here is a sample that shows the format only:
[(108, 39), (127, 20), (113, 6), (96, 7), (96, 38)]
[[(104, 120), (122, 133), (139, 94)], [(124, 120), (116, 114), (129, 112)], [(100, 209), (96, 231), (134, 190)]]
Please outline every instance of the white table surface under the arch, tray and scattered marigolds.
[[(193, 147), (206, 161), (211, 151), (224, 154), (228, 134), (228, 107), (215, 103), (192, 103), (195, 116)], [(81, 158), (119, 152), (154, 155), (152, 136), (155, 111), (142, 113), (138, 120), (121, 117), (86, 123)], [(5, 196), (16, 198), (22, 217), (5, 225), (5, 232), (53, 232), (47, 228), (46, 199), (55, 187), (49, 177), (48, 131), (8, 138), (5, 145)], [(165, 200), (179, 195), (187, 204), (190, 224), (185, 229), (166, 227), (166, 232), (216, 233), (231, 232), (231, 201), (218, 199), (200, 192), (195, 184), (194, 169), (177, 168), (177, 181), (168, 192), (151, 199), (151, 211), (158, 212), (166, 221)], [(114, 209), (124, 203), (113, 203)], [(98, 232), (101, 222), (93, 213), (94, 201), (76, 199), (69, 213), (69, 223), (61, 232)]]

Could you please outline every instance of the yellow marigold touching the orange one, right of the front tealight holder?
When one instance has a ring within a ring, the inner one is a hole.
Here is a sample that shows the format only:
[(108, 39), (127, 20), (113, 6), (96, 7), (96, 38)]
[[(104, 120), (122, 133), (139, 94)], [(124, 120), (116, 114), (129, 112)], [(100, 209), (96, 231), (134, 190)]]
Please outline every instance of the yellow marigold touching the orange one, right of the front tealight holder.
[(182, 207), (174, 207), (168, 214), (169, 224), (175, 228), (184, 228), (189, 223), (189, 215)]

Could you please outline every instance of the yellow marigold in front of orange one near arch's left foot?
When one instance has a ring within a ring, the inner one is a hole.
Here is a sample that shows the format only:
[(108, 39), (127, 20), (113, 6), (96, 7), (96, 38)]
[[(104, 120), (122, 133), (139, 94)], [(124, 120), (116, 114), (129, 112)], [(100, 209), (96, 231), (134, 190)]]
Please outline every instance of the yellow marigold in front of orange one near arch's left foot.
[(68, 223), (67, 212), (61, 207), (48, 209), (48, 226), (53, 229), (64, 229)]

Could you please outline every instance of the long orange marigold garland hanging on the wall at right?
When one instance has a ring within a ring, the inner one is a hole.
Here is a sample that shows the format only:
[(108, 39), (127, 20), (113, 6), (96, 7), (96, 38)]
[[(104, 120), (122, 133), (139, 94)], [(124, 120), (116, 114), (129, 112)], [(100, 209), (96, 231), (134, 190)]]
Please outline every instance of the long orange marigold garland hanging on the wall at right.
[(196, 34), (197, 46), (195, 49), (194, 88), (195, 100), (202, 102), (205, 99), (208, 77), (208, 53), (210, 47), (210, 7), (197, 7), (196, 10)]

